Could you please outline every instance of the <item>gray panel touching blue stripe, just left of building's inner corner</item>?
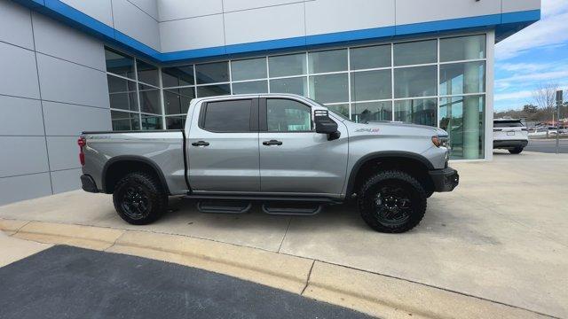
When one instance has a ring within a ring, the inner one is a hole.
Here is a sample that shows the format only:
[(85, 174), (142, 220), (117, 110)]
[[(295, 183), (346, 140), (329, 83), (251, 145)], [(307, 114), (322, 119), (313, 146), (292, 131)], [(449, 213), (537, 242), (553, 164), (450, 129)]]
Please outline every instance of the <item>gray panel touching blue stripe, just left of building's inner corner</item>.
[(114, 28), (160, 51), (158, 21), (126, 0), (113, 0)]

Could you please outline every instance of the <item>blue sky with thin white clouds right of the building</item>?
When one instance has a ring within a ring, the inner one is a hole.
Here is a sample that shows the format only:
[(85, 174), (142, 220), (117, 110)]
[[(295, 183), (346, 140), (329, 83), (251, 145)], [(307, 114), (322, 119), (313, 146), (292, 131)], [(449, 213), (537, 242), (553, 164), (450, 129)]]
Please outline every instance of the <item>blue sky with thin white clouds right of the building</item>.
[(549, 84), (568, 89), (568, 0), (542, 0), (540, 21), (496, 44), (494, 111), (536, 105)]

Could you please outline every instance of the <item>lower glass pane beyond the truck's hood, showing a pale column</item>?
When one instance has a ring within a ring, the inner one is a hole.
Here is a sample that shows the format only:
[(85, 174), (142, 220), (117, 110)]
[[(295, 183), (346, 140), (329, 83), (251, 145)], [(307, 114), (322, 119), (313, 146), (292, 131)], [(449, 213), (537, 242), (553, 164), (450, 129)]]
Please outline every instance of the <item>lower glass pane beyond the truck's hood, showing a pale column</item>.
[(485, 97), (442, 97), (440, 128), (450, 135), (451, 159), (485, 156)]

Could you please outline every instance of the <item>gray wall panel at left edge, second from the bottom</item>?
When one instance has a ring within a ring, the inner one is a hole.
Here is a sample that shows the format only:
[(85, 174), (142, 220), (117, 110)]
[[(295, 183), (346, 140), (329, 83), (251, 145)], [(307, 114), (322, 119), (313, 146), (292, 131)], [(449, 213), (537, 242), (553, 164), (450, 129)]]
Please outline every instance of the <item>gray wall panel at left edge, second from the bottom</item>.
[(43, 136), (0, 136), (0, 177), (48, 171)]

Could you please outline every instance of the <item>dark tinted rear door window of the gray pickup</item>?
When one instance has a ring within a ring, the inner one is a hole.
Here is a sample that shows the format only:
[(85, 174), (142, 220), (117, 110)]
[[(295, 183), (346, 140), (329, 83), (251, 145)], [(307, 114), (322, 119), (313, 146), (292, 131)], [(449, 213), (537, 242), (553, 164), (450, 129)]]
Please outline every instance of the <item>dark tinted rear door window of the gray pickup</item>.
[(248, 132), (251, 100), (209, 102), (203, 128), (212, 132)]

